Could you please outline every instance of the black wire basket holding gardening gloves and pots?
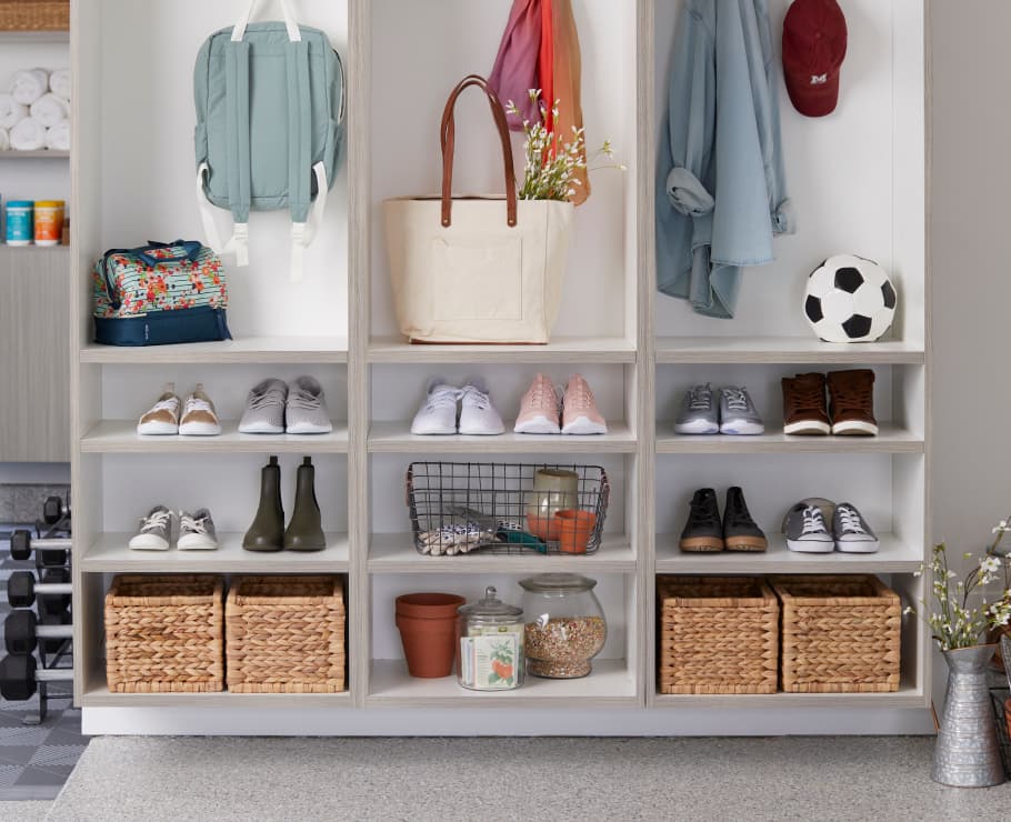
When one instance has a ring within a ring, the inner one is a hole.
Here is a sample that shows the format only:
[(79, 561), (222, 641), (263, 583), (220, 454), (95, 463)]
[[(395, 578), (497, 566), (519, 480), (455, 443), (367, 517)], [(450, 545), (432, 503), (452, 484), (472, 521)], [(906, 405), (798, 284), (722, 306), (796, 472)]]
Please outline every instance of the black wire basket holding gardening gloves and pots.
[(593, 553), (610, 490), (599, 465), (412, 462), (407, 472), (414, 548), (433, 557), (563, 553), (571, 520), (562, 517), (587, 523), (584, 550), (575, 552)]

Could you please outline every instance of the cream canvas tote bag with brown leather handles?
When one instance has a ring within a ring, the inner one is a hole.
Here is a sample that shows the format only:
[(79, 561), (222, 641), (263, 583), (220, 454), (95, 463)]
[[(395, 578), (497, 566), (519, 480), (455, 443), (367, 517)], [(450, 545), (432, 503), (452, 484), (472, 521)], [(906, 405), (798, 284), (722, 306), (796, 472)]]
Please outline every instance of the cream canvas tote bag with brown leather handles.
[[(453, 109), (487, 96), (502, 143), (506, 197), (452, 196)], [(442, 197), (383, 203), (393, 300), (412, 342), (547, 343), (558, 320), (573, 207), (517, 200), (506, 111), (487, 81), (464, 78), (442, 113)]]

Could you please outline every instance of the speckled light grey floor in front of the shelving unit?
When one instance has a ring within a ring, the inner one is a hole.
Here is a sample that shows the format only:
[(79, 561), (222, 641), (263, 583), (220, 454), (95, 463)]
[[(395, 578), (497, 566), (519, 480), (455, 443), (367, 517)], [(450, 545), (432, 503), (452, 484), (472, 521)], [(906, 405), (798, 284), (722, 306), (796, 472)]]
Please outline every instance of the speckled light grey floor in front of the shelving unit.
[(49, 819), (1011, 819), (1011, 784), (934, 784), (932, 750), (930, 738), (854, 736), (100, 738)]

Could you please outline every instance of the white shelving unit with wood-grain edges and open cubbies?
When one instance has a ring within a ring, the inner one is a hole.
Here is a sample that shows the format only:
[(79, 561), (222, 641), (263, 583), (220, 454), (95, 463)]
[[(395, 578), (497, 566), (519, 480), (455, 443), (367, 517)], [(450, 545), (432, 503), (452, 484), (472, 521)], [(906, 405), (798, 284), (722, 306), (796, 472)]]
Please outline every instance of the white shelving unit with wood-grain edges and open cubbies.
[[(733, 733), (739, 725), (717, 710), (727, 708), (734, 709), (735, 716), (751, 716), (752, 726), (769, 733), (817, 730), (822, 726), (819, 716), (839, 716), (840, 709), (852, 712), (845, 715), (854, 730), (861, 716), (907, 709), (919, 709), (913, 712), (917, 719), (897, 719), (888, 726), (898, 732), (922, 725), (930, 692), (928, 638), (911, 622), (903, 626), (902, 685), (897, 693), (723, 698), (655, 692), (657, 574), (875, 573), (904, 597), (919, 598), (921, 583), (912, 572), (925, 555), (930, 452), (924, 10), (917, 0), (854, 3), (858, 8), (848, 12), (851, 51), (840, 110), (823, 120), (807, 120), (792, 110), (781, 89), (788, 177), (801, 232), (777, 241), (774, 264), (745, 273), (737, 319), (700, 318), (654, 288), (654, 158), (681, 3), (580, 0), (575, 8), (589, 139), (611, 139), (629, 169), (594, 174), (593, 193), (577, 212), (552, 342), (411, 345), (399, 335), (393, 315), (381, 203), (388, 197), (438, 189), (438, 126), (446, 96), (466, 73), (491, 68), (510, 1), (298, 0), (299, 19), (330, 34), (350, 80), (343, 170), (324, 227), (307, 255), (304, 282), (289, 283), (283, 273), (287, 215), (256, 214), (252, 265), (234, 269), (226, 258), (229, 323), (236, 339), (126, 349), (91, 342), (91, 265), (109, 247), (201, 235), (192, 202), (188, 67), (203, 37), (231, 24), (246, 0), (103, 0), (97, 11), (86, 11), (83, 0), (74, 0), (74, 104), (91, 112), (74, 133), (71, 162), (73, 210), (79, 215), (73, 224), (78, 321), (72, 349), (76, 696), (84, 706), (86, 726), (93, 732), (123, 728), (121, 714), (111, 719), (107, 710), (136, 708), (130, 714), (134, 726), (156, 732), (211, 725), (236, 733), (267, 729), (244, 710), (248, 706), (289, 711), (291, 733), (339, 733), (344, 722), (364, 732), (389, 733), (396, 726), (407, 733), (431, 728), (426, 722), (436, 715), (446, 718), (448, 732), (508, 732), (513, 719), (520, 726), (520, 720), (549, 713), (552, 728), (571, 733), (613, 732), (625, 728), (633, 714), (647, 718), (634, 726), (651, 733), (687, 728)], [(770, 3), (773, 30), (787, 4)], [(140, 42), (126, 37), (134, 30), (160, 33), (154, 41)], [(116, 61), (100, 49), (102, 41), (112, 40), (126, 50)], [(124, 63), (136, 70), (118, 71)], [(101, 122), (128, 111), (130, 101), (156, 94), (174, 117), (153, 136), (136, 118), (123, 118), (114, 131), (101, 129)], [(878, 128), (869, 131), (863, 126), (869, 121)], [(499, 166), (490, 162), (490, 152), (497, 150), (491, 133), (487, 106), (477, 94), (464, 97), (458, 109), (454, 174), (461, 192), (501, 189)], [(831, 154), (831, 163), (819, 159), (823, 153)], [(152, 176), (161, 181), (157, 202), (134, 186)], [(859, 196), (838, 196), (854, 186)], [(837, 194), (827, 198), (825, 191)], [(828, 345), (807, 329), (799, 304), (803, 279), (827, 255), (841, 251), (874, 257), (893, 273), (901, 310), (891, 339)], [(847, 367), (874, 370), (881, 422), (877, 438), (778, 433), (782, 377)], [(484, 377), (511, 427), (520, 397), (539, 371), (557, 383), (574, 372), (587, 377), (610, 432), (598, 438), (410, 434), (410, 420), (433, 375), (454, 384), (472, 374)], [(323, 382), (334, 418), (332, 434), (237, 432), (234, 420), (254, 382), (299, 373)], [(137, 414), (167, 381), (174, 381), (180, 392), (203, 382), (226, 420), (223, 434), (206, 440), (137, 437)], [(670, 420), (683, 391), (707, 381), (714, 387), (747, 384), (765, 417), (767, 433), (673, 434)], [(281, 459), (286, 510), (296, 464), (302, 454), (313, 457), (329, 532), (326, 551), (242, 551), (241, 535), (257, 505), (259, 468), (272, 453)], [(419, 460), (601, 465), (611, 483), (603, 542), (587, 557), (422, 557), (408, 533), (403, 484), (408, 464)], [(692, 491), (712, 485), (722, 499), (731, 484), (744, 488), (752, 513), (769, 534), (769, 550), (680, 553), (677, 535)], [(857, 503), (881, 532), (881, 550), (824, 557), (787, 551), (779, 535), (782, 513), (807, 495)], [(221, 549), (148, 554), (126, 548), (136, 518), (161, 501), (208, 504), (223, 533)], [(442, 590), (474, 599), (484, 585), (496, 584), (503, 599), (519, 602), (520, 579), (560, 570), (598, 580), (609, 633), (590, 676), (529, 678), (523, 689), (488, 695), (459, 689), (452, 678), (423, 681), (407, 674), (393, 621), (396, 595)], [(102, 595), (110, 574), (128, 571), (346, 574), (348, 692), (333, 698), (110, 694), (102, 658)], [(192, 713), (203, 706), (213, 706), (213, 714)], [(472, 710), (427, 712), (456, 708)], [(488, 714), (481, 713), (484, 709)], [(474, 719), (479, 715), (487, 722)], [(208, 718), (211, 725), (201, 725), (194, 716)], [(492, 716), (507, 719), (503, 724)]]

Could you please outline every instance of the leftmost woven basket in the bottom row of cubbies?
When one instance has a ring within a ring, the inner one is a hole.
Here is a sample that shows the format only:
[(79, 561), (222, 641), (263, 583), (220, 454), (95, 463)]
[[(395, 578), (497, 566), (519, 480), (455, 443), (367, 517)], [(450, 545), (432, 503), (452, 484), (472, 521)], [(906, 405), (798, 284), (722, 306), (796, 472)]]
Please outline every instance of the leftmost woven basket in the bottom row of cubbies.
[(112, 580), (106, 678), (114, 693), (202, 693), (224, 686), (224, 583), (210, 574)]

